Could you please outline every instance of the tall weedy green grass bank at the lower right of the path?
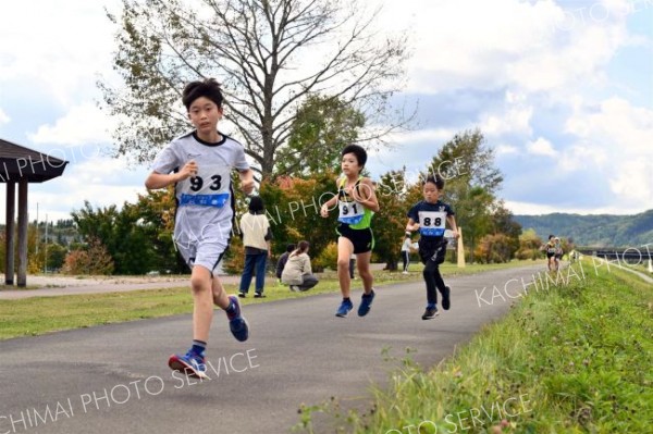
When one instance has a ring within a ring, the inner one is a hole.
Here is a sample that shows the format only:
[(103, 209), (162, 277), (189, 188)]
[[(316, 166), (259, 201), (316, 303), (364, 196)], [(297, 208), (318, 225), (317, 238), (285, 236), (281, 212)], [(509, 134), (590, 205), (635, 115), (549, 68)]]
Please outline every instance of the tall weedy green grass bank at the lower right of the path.
[(319, 411), (346, 433), (650, 433), (653, 286), (584, 265), (587, 280), (531, 292), (430, 371), (408, 354), (369, 411), (343, 417), (332, 399), (296, 429)]

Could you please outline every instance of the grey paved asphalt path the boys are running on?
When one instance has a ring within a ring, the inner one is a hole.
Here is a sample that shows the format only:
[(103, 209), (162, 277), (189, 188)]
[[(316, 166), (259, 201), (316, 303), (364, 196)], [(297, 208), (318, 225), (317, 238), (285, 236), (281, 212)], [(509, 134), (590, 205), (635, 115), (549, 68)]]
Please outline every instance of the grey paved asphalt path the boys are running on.
[[(190, 317), (177, 315), (0, 342), (0, 434), (8, 433), (288, 433), (299, 404), (335, 396), (365, 408), (372, 382), (384, 384), (396, 362), (382, 349), (432, 365), (469, 340), (510, 305), (506, 283), (542, 265), (447, 280), (452, 309), (422, 321), (422, 283), (383, 286), (371, 312), (334, 317), (337, 294), (245, 307), (246, 343), (215, 312), (208, 361), (210, 381), (198, 383), (168, 369), (168, 357), (187, 348)], [(493, 305), (476, 292), (502, 292)], [(512, 295), (521, 284), (508, 284)], [(326, 426), (319, 433), (332, 432)]]

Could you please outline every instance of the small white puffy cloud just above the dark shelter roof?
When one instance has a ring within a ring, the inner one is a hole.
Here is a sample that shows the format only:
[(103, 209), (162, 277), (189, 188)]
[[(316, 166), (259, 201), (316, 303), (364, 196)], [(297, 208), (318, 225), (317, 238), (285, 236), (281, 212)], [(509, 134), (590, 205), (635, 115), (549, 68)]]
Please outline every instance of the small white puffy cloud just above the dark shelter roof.
[(114, 117), (90, 102), (75, 106), (54, 125), (40, 125), (27, 137), (35, 144), (83, 145), (110, 142), (111, 131), (116, 126)]

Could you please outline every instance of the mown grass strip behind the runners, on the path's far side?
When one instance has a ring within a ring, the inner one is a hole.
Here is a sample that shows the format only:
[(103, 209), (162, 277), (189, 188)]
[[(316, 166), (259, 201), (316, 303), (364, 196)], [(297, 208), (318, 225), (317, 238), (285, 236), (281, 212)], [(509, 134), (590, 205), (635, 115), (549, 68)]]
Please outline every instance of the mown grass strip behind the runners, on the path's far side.
[[(506, 266), (521, 266), (532, 261), (513, 261), (508, 264), (469, 265), (457, 269), (455, 264), (443, 264), (444, 275), (478, 273)], [(543, 263), (543, 262), (542, 262)], [(421, 280), (421, 264), (412, 264), (410, 274), (374, 271), (374, 285)], [(267, 298), (246, 298), (245, 305), (272, 300), (307, 297), (315, 294), (337, 293), (336, 274), (326, 271), (321, 282), (309, 293), (291, 293), (287, 286), (268, 285)], [(183, 286), (183, 285), (181, 285)], [(360, 280), (353, 282), (360, 287)], [(225, 285), (227, 293), (236, 293), (235, 285)], [(147, 289), (111, 294), (74, 295), (59, 297), (33, 297), (20, 300), (0, 300), (0, 339), (34, 336), (69, 328), (90, 327), (148, 318), (167, 317), (193, 311), (193, 298), (186, 287), (172, 289)]]

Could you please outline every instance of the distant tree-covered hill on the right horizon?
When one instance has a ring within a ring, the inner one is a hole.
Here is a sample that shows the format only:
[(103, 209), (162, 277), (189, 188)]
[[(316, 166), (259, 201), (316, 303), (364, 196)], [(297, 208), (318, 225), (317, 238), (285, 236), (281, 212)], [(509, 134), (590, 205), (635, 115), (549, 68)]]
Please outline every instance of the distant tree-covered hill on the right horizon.
[(546, 239), (550, 234), (572, 238), (577, 246), (640, 247), (651, 244), (653, 251), (653, 210), (634, 215), (580, 215), (553, 213), (515, 215), (523, 230), (533, 228)]

